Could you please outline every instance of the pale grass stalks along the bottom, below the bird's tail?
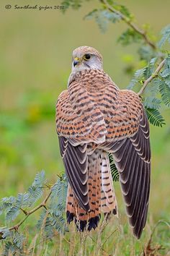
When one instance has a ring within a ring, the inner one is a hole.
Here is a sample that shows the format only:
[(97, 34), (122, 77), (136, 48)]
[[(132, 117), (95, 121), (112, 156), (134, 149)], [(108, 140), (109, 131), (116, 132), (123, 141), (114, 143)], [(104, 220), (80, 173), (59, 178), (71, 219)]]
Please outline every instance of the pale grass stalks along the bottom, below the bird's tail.
[(122, 218), (111, 218), (105, 225), (101, 221), (97, 231), (83, 234), (72, 223), (67, 234), (56, 233), (51, 241), (45, 241), (42, 231), (36, 233), (26, 225), (25, 244), (30, 246), (25, 246), (24, 255), (169, 255), (168, 223), (159, 221), (153, 226), (148, 221), (142, 238), (136, 240), (122, 222)]

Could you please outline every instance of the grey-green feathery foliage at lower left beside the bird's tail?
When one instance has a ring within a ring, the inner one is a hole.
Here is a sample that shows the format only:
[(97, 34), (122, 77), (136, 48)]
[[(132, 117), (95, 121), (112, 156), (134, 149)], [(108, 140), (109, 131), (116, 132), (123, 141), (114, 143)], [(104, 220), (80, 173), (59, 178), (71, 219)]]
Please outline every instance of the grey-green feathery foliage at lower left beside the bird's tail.
[[(22, 253), (24, 250), (24, 230), (20, 231), (20, 225), (36, 210), (42, 208), (40, 218), (37, 221), (37, 231), (40, 231), (40, 239), (51, 239), (58, 233), (64, 234), (67, 231), (65, 208), (66, 208), (66, 193), (68, 182), (66, 176), (63, 175), (51, 187), (47, 185), (45, 179), (45, 171), (36, 174), (35, 180), (28, 188), (27, 192), (19, 193), (17, 197), (4, 197), (1, 200), (0, 213), (4, 214), (7, 226), (0, 228), (0, 239), (4, 240), (3, 255), (9, 253)], [(50, 189), (49, 196), (40, 205), (35, 206), (35, 203), (42, 197), (46, 189)], [(30, 207), (35, 208), (30, 210)], [(17, 216), (23, 215), (22, 221), (19, 221), (14, 226)]]

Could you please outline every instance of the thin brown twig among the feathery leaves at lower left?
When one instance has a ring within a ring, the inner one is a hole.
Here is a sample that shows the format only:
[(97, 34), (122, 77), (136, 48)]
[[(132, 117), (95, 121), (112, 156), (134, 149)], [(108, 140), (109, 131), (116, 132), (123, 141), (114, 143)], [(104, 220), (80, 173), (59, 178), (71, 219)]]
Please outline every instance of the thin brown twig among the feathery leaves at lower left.
[(22, 221), (19, 221), (19, 223), (17, 223), (16, 225), (12, 226), (11, 228), (9, 228), (9, 231), (12, 231), (12, 230), (18, 230), (19, 229), (19, 226), (22, 225), (22, 223), (24, 223), (24, 221), (27, 220), (27, 218), (32, 214), (32, 213), (35, 213), (37, 210), (39, 210), (40, 208), (44, 207), (46, 210), (47, 210), (47, 207), (46, 207), (46, 204), (48, 202), (48, 199), (51, 195), (51, 192), (52, 192), (52, 188), (53, 186), (50, 188), (50, 192), (48, 193), (48, 195), (45, 197), (45, 199), (40, 203), (40, 205), (37, 205), (34, 209), (30, 210), (29, 212), (26, 212), (24, 211), (24, 214), (26, 215)]

